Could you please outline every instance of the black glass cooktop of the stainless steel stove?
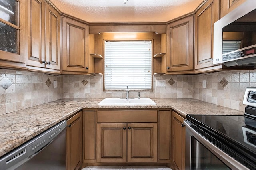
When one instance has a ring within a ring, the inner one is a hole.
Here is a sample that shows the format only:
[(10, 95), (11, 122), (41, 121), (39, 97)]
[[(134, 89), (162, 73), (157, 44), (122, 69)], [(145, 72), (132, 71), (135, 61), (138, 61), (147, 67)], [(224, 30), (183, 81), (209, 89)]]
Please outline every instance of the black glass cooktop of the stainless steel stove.
[[(256, 162), (256, 128), (245, 124), (244, 115), (187, 115), (187, 119), (216, 141)], [(256, 125), (256, 120), (250, 123)]]

